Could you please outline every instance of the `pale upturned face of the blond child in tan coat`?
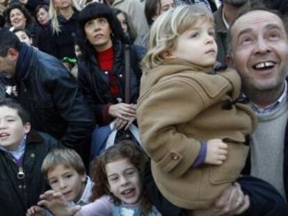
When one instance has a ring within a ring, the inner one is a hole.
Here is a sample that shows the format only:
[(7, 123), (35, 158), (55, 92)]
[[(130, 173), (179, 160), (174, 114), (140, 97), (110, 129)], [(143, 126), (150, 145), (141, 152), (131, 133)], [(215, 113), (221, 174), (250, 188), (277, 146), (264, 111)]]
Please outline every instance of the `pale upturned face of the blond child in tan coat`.
[(210, 22), (198, 22), (194, 28), (185, 31), (177, 40), (177, 47), (170, 51), (171, 58), (182, 58), (203, 67), (214, 65), (217, 45), (214, 40), (214, 26)]

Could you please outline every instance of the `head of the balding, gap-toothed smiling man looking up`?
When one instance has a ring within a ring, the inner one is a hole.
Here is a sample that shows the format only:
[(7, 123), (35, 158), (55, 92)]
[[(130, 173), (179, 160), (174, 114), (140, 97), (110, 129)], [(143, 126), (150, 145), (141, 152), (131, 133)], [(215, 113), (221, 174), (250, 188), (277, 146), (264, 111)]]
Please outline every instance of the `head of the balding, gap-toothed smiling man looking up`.
[(232, 26), (232, 58), (244, 90), (280, 91), (288, 71), (288, 41), (282, 20), (273, 13), (255, 10)]

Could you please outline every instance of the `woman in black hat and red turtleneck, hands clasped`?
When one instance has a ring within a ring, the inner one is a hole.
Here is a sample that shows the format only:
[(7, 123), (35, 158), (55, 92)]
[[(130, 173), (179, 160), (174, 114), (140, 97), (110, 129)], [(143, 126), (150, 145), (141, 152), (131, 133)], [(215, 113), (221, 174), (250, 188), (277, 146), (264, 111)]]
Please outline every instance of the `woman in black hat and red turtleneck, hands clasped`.
[(139, 63), (145, 49), (133, 45), (128, 48), (130, 95), (125, 99), (125, 44), (129, 44), (129, 40), (113, 10), (102, 3), (90, 3), (81, 10), (78, 19), (77, 35), (83, 55), (78, 66), (78, 81), (86, 101), (99, 126), (113, 122), (111, 131), (127, 130), (136, 119)]

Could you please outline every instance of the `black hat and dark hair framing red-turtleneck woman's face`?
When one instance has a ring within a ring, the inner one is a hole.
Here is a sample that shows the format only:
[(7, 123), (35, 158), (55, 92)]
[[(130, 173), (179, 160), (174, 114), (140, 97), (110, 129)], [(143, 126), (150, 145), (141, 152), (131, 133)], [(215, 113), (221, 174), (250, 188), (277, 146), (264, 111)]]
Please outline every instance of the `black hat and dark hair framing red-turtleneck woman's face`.
[(83, 53), (83, 58), (86, 59), (94, 52), (93, 46), (86, 40), (86, 33), (84, 31), (85, 24), (91, 19), (104, 17), (109, 22), (111, 28), (111, 40), (121, 40), (123, 43), (128, 44), (129, 40), (125, 37), (122, 26), (114, 15), (113, 10), (104, 3), (89, 3), (83, 10), (79, 12), (77, 22), (77, 37), (81, 42), (79, 44), (80, 50)]

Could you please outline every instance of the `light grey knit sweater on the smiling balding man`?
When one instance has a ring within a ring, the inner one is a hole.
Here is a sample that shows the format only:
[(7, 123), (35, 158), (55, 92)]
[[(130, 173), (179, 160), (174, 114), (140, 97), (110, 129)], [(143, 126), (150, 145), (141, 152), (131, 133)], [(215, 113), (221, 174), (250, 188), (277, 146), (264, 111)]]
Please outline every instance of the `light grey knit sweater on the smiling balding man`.
[(287, 118), (288, 101), (271, 113), (257, 114), (259, 124), (253, 133), (250, 150), (251, 175), (271, 183), (283, 197), (285, 189), (282, 164)]

